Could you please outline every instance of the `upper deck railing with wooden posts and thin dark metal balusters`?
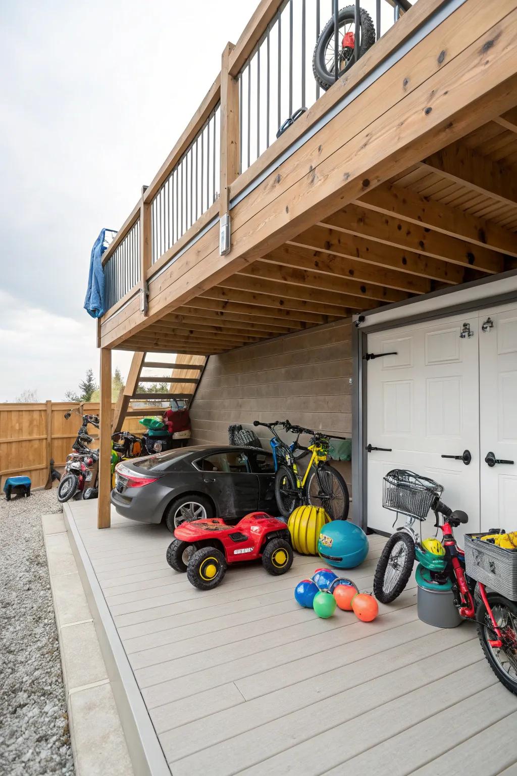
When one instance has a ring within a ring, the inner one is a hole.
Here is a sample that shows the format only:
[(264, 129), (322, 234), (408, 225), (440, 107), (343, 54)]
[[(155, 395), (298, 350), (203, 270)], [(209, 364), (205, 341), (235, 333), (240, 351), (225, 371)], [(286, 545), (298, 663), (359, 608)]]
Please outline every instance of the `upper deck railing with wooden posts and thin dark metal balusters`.
[[(360, 6), (370, 13), (377, 40), (412, 5), (409, 0), (353, 3), (356, 19)], [(232, 203), (234, 196), (243, 196), (261, 161), (265, 167), (284, 150), (282, 136), (274, 154), (278, 127), (293, 110), (310, 108), (322, 95), (312, 75), (312, 53), (329, 18), (337, 31), (338, 6), (337, 0), (261, 0), (236, 46), (228, 44), (201, 106), (105, 251), (109, 314), (139, 292), (144, 299), (149, 279), (229, 212), (230, 193)], [(359, 36), (353, 56), (360, 57)], [(144, 302), (141, 307), (146, 309)]]

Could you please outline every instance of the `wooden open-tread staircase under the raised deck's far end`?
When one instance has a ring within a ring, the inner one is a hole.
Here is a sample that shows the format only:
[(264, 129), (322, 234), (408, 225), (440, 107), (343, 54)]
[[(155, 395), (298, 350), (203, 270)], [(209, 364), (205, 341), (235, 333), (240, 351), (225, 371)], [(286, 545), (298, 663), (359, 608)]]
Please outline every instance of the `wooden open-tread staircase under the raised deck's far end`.
[[(174, 363), (146, 361), (145, 352), (133, 355), (133, 361), (127, 376), (126, 386), (119, 393), (113, 413), (112, 431), (120, 431), (126, 417), (146, 417), (161, 414), (159, 407), (132, 407), (132, 402), (147, 400), (170, 401), (183, 400), (188, 407), (194, 396), (196, 386), (201, 379), (207, 356), (178, 354)], [(142, 375), (143, 369), (171, 370), (170, 374), (159, 376)], [(168, 393), (136, 393), (140, 383), (169, 383)]]

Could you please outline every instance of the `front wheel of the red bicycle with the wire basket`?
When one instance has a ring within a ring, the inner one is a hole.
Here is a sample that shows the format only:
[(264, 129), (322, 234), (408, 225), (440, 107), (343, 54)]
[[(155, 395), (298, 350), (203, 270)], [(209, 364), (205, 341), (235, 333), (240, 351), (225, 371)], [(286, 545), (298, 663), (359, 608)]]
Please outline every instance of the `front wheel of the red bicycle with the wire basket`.
[(408, 584), (415, 564), (415, 542), (397, 531), (384, 545), (374, 575), (374, 596), (381, 604), (391, 604)]

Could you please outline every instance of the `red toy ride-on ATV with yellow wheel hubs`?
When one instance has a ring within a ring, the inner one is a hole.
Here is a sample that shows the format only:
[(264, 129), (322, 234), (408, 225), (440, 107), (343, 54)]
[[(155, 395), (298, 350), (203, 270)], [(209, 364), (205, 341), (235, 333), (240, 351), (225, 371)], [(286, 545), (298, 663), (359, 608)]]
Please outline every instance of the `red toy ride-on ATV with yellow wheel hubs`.
[(246, 514), (237, 525), (221, 518), (184, 522), (167, 549), (169, 566), (186, 571), (188, 581), (201, 590), (222, 582), (229, 563), (257, 558), (275, 575), (284, 574), (293, 562), (287, 526), (265, 512)]

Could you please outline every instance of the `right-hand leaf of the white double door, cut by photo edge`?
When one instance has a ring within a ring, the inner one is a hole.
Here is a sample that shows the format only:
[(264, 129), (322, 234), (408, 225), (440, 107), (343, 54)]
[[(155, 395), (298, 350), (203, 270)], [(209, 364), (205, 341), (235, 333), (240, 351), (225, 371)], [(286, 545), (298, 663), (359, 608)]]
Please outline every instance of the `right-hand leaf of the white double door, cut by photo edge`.
[[(488, 318), (492, 327), (481, 330)], [(515, 530), (517, 504), (517, 310), (480, 313), (481, 529)], [(484, 458), (515, 461), (488, 466)]]

